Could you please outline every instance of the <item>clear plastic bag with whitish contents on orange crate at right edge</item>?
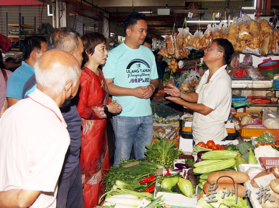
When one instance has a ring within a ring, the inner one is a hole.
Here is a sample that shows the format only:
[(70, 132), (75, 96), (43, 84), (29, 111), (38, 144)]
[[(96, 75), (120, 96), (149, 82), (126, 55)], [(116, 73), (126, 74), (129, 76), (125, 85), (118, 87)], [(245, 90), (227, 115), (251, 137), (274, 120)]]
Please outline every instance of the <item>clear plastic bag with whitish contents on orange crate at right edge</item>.
[(266, 128), (279, 129), (279, 112), (263, 108), (262, 124), (265, 124)]

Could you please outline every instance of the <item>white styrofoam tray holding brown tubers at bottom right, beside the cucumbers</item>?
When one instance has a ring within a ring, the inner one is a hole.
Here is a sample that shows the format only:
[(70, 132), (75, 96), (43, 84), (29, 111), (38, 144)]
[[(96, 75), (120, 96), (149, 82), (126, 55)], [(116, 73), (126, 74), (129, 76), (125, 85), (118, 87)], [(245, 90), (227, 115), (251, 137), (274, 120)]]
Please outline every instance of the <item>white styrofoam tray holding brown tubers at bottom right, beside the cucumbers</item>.
[[(245, 172), (247, 173), (247, 170), (250, 168), (250, 167), (257, 167), (257, 168), (262, 168), (261, 165), (251, 165), (251, 164), (240, 164), (239, 165), (239, 170), (241, 172)], [(259, 191), (259, 188), (254, 188), (250, 181), (247, 181), (246, 183), (244, 183), (244, 187), (248, 190), (251, 191), (251, 194), (250, 194), (250, 202), (253, 206), (253, 208), (262, 208), (262, 206), (259, 204), (259, 201), (257, 200), (257, 197), (258, 197), (258, 194), (256, 194), (257, 191)]]

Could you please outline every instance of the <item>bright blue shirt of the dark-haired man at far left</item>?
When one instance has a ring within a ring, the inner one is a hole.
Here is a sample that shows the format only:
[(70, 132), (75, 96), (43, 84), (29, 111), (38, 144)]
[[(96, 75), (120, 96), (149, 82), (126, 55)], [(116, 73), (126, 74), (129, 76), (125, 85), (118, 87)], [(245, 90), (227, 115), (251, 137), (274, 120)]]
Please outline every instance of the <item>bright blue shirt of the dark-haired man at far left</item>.
[(7, 81), (7, 97), (21, 99), (23, 87), (27, 80), (35, 73), (34, 68), (22, 61)]

